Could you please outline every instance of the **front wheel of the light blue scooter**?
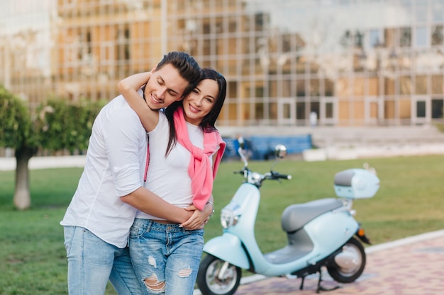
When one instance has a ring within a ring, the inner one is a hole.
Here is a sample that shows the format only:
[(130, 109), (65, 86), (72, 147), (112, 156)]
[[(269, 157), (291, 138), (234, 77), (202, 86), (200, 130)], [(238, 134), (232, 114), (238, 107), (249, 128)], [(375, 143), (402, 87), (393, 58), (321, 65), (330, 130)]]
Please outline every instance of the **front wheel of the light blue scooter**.
[(239, 287), (240, 267), (206, 255), (197, 272), (197, 286), (204, 295), (233, 295)]

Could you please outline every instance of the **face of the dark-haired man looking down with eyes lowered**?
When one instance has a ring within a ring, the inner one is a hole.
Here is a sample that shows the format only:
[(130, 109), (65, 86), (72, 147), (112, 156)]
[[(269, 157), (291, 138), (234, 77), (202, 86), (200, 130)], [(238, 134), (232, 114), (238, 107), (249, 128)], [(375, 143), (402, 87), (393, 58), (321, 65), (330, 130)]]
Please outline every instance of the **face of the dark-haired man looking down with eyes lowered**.
[(180, 76), (171, 64), (165, 64), (157, 71), (152, 71), (145, 86), (145, 99), (151, 110), (167, 108), (174, 101), (181, 100), (188, 81)]

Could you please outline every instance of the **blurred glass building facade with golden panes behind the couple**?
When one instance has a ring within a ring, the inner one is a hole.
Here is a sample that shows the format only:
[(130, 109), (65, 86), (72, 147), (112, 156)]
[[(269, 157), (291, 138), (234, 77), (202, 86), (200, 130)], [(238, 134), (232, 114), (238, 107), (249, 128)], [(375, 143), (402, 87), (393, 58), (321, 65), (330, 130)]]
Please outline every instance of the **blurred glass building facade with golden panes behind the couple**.
[(443, 122), (444, 0), (0, 0), (0, 83), (111, 99), (189, 52), (226, 76), (218, 126)]

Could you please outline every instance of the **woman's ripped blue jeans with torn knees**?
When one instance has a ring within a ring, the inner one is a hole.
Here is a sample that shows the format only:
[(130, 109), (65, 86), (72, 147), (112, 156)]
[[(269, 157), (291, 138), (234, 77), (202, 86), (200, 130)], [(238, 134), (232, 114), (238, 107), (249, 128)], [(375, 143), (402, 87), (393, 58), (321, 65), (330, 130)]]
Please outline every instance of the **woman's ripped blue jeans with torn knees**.
[(179, 224), (136, 218), (129, 246), (145, 295), (193, 294), (204, 248), (203, 229), (188, 231)]

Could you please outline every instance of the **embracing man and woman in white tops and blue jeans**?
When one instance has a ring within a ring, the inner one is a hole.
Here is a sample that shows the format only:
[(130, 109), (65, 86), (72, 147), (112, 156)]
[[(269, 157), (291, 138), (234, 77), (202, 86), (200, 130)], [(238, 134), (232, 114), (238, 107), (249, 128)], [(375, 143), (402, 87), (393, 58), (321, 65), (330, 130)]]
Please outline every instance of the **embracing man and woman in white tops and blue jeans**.
[(226, 144), (215, 122), (226, 79), (170, 52), (118, 83), (92, 127), (65, 217), (70, 295), (191, 295), (213, 180)]

